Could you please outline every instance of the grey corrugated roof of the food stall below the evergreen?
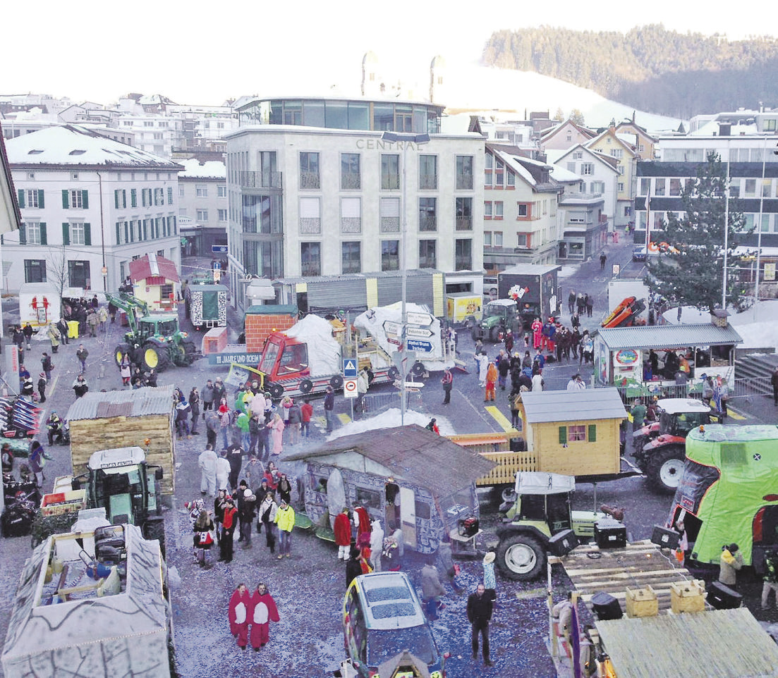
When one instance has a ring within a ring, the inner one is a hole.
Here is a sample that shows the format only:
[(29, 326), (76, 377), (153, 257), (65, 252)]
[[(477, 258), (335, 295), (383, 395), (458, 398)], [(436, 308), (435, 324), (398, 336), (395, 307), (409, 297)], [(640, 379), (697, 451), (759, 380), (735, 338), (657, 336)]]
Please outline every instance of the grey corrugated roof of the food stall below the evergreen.
[(731, 325), (643, 325), (641, 327), (604, 327), (598, 336), (611, 351), (622, 348), (683, 348), (686, 346), (724, 346), (741, 344), (743, 339)]

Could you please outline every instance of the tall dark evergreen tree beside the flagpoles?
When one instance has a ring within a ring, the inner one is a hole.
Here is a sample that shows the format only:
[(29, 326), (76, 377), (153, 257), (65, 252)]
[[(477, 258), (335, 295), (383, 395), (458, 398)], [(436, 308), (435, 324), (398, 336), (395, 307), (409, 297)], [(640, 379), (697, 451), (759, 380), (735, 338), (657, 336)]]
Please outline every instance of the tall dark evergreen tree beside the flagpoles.
[[(678, 216), (671, 213), (668, 222), (664, 222), (664, 232), (650, 232), (654, 243), (668, 244), (655, 259), (648, 258), (649, 275), (645, 282), (652, 292), (678, 306), (708, 311), (720, 306), (729, 183), (720, 156), (710, 153), (707, 162), (699, 166), (696, 179), (687, 181), (681, 192), (685, 211)], [(727, 271), (732, 271), (738, 264), (733, 250), (745, 222), (734, 199), (729, 201), (727, 221)], [(739, 305), (745, 294), (745, 284), (735, 278), (732, 273), (727, 276), (727, 305)]]

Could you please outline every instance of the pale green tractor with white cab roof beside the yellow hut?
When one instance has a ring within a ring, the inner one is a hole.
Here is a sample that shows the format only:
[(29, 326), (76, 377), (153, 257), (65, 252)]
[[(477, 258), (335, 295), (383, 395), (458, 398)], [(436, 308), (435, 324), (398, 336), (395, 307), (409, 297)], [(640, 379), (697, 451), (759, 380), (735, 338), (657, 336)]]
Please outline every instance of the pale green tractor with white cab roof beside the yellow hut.
[(542, 471), (516, 474), (515, 500), (500, 506), (505, 519), (497, 529), (496, 563), (503, 575), (517, 581), (540, 576), (546, 566), (548, 540), (567, 529), (591, 540), (594, 523), (606, 515), (571, 510), (575, 488), (572, 476)]

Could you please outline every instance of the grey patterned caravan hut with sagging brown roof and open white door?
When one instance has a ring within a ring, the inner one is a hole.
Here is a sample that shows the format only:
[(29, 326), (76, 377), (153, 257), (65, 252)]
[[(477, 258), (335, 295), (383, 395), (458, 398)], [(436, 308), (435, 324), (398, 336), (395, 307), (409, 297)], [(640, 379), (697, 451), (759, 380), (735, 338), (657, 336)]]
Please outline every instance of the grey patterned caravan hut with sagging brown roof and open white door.
[(300, 481), (314, 523), (334, 526), (344, 506), (359, 503), (384, 528), (400, 526), (405, 545), (422, 554), (444, 535), (457, 540), (465, 516), (478, 517), (475, 479), (494, 465), (415, 424), (346, 435), (284, 460), (305, 463)]

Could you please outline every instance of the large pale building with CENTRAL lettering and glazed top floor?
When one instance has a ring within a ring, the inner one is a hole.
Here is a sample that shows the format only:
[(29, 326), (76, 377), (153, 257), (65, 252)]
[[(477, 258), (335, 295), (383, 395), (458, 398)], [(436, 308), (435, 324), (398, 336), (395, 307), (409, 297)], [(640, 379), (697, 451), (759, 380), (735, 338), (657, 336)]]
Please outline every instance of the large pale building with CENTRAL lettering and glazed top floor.
[(436, 268), (480, 293), (484, 139), (440, 134), (441, 112), (397, 100), (240, 107), (227, 135), (233, 299), (251, 276), (397, 271), (403, 218), (407, 269)]

